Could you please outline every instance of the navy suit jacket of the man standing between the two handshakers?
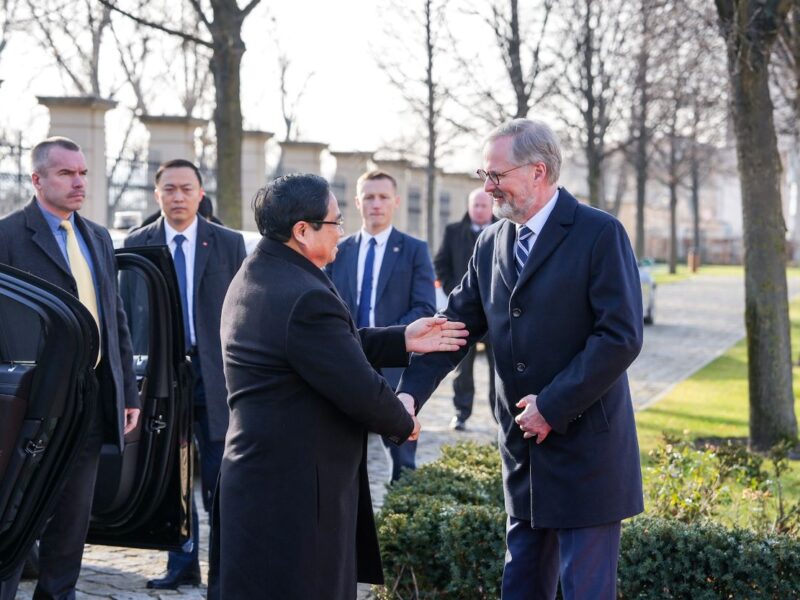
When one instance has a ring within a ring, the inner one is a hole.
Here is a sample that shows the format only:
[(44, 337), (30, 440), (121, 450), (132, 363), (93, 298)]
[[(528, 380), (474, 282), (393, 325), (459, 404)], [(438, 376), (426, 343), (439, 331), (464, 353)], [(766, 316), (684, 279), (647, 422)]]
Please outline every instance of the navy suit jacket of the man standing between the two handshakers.
[[(350, 309), (358, 314), (358, 248), (361, 234), (339, 242), (336, 260), (326, 267), (331, 281)], [(433, 285), (428, 244), (397, 228), (392, 229), (386, 243), (378, 287), (375, 293), (375, 326), (408, 325), (436, 312), (436, 291)], [(392, 388), (397, 387), (402, 369), (382, 369)]]

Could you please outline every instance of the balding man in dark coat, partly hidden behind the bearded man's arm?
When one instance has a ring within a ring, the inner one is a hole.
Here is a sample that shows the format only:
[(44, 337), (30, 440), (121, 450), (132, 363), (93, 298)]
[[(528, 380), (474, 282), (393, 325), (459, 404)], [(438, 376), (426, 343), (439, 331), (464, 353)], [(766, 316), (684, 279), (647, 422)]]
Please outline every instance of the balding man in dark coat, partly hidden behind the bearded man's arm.
[[(497, 219), (492, 216), (492, 197), (476, 188), (470, 192), (467, 200), (467, 214), (458, 223), (451, 223), (444, 229), (444, 239), (439, 251), (433, 259), (436, 277), (442, 284), (445, 294), (450, 294), (461, 283), (461, 278), (467, 272), (472, 250), (481, 231), (494, 223)], [(486, 361), (489, 363), (489, 406), (492, 416), (495, 416), (494, 401), (494, 357), (491, 346), (486, 338), (483, 340)], [(456, 367), (453, 379), (453, 405), (456, 414), (450, 421), (450, 427), (456, 431), (466, 429), (467, 419), (472, 414), (472, 403), (475, 397), (475, 379), (473, 367), (475, 365), (476, 346), (472, 346), (464, 359)]]

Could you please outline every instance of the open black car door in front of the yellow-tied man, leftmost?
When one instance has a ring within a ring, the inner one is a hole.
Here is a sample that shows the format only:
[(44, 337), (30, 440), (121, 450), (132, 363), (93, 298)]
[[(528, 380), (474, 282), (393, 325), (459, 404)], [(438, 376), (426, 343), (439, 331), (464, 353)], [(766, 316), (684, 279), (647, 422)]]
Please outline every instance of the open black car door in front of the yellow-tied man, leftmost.
[(0, 265), (0, 578), (25, 559), (84, 444), (97, 349), (74, 296)]

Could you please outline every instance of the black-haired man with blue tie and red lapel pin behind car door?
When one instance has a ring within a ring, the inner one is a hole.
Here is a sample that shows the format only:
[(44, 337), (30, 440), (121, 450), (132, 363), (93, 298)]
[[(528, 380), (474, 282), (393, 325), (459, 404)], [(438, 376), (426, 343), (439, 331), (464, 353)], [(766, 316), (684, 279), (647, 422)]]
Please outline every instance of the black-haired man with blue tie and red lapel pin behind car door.
[[(204, 197), (198, 168), (170, 160), (156, 172), (155, 196), (162, 216), (125, 240), (126, 247), (169, 247), (183, 304), (186, 352), (194, 368), (194, 434), (200, 453), (203, 507), (211, 507), (228, 429), (227, 390), (222, 372), (219, 323), (222, 302), (245, 257), (240, 233), (198, 218)], [(148, 588), (176, 589), (200, 584), (199, 527), (192, 502), (191, 549), (170, 552), (167, 572)]]

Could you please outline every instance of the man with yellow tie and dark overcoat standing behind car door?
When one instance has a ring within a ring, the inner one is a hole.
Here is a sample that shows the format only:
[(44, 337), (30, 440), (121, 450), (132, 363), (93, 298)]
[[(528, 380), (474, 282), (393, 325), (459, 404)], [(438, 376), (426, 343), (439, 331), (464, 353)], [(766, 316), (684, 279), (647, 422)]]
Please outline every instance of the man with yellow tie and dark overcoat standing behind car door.
[[(35, 197), (0, 219), (0, 263), (56, 285), (86, 306), (97, 322), (100, 352), (95, 374), (97, 411), (83, 450), (41, 534), (35, 598), (74, 598), (89, 529), (100, 449), (105, 439), (122, 450), (139, 419), (139, 394), (111, 236), (81, 217), (86, 199), (86, 159), (70, 139), (52, 137), (31, 152)], [(104, 198), (95, 198), (103, 202)], [(54, 357), (50, 357), (54, 358)], [(55, 357), (57, 359), (57, 357)], [(21, 569), (0, 582), (0, 598), (13, 599)]]

